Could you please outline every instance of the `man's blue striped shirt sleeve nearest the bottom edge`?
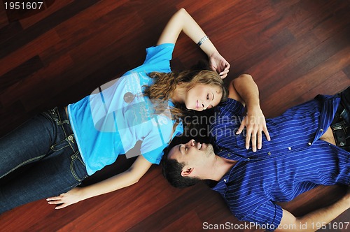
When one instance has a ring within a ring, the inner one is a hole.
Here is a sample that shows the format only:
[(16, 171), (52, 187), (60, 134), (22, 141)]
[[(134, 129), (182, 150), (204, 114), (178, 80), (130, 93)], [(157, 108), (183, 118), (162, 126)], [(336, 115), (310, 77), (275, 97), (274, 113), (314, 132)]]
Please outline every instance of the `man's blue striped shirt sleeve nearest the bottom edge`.
[(254, 210), (237, 218), (242, 221), (264, 225), (269, 231), (274, 231), (281, 223), (282, 215), (283, 210), (281, 206), (276, 205), (272, 201), (267, 201), (266, 203), (258, 205)]

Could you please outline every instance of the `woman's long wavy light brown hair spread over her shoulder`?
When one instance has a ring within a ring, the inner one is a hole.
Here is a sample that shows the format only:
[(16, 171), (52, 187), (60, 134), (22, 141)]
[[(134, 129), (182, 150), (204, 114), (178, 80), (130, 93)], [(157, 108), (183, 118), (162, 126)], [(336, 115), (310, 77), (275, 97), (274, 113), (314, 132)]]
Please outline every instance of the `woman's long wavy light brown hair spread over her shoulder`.
[[(172, 99), (176, 86), (182, 84), (187, 91), (195, 87), (195, 85), (211, 85), (219, 87), (222, 92), (221, 102), (228, 99), (228, 89), (223, 84), (220, 75), (215, 71), (200, 70), (200, 71), (181, 71), (179, 73), (158, 73), (153, 72), (148, 74), (151, 78), (155, 78), (153, 85), (146, 87), (144, 94), (150, 99), (157, 99), (167, 102)], [(170, 109), (172, 119), (176, 120), (174, 128), (179, 124), (180, 119), (189, 115), (189, 110), (184, 104), (174, 103), (175, 107)]]

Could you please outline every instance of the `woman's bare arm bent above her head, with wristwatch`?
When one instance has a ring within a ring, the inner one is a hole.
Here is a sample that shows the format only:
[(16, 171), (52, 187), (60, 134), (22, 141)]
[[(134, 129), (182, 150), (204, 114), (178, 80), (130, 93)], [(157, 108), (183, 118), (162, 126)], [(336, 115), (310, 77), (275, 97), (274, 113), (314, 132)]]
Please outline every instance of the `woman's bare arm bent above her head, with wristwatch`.
[[(195, 43), (198, 43), (206, 36), (193, 17), (191, 17), (185, 9), (181, 8), (172, 16), (165, 26), (165, 29), (158, 39), (157, 45), (162, 43), (176, 43), (181, 31)], [(230, 64), (220, 55), (214, 44), (207, 39), (203, 41), (200, 48), (207, 54), (211, 69), (217, 71), (221, 75), (221, 78), (225, 78), (228, 75)]]

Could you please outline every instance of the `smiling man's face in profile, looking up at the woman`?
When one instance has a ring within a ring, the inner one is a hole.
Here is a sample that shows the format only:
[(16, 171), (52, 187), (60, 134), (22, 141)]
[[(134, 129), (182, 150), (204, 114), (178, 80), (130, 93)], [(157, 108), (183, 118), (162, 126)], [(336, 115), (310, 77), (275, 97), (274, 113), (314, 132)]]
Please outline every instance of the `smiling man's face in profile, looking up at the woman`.
[(168, 154), (169, 159), (176, 159), (179, 163), (190, 166), (203, 165), (214, 155), (213, 146), (205, 143), (195, 143), (190, 140), (186, 144), (176, 145)]

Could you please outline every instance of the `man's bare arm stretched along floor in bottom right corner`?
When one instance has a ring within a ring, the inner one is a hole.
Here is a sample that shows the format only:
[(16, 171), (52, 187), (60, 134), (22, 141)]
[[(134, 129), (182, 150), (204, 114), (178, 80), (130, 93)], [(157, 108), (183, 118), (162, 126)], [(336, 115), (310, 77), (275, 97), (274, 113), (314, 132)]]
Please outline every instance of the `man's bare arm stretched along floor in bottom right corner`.
[[(328, 207), (315, 210), (302, 217), (294, 217), (287, 210), (283, 210), (281, 224), (276, 231), (316, 231), (319, 225), (326, 225), (350, 208), (350, 187), (346, 195)], [(285, 229), (283, 229), (285, 228)], [(291, 228), (295, 228), (292, 230)]]

